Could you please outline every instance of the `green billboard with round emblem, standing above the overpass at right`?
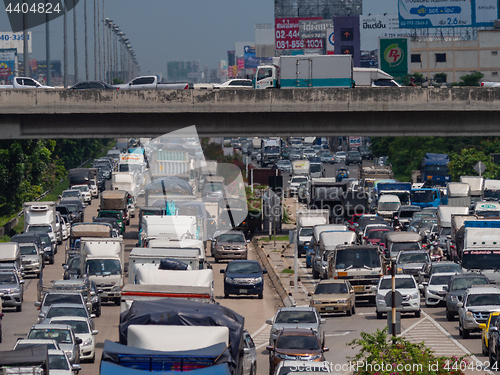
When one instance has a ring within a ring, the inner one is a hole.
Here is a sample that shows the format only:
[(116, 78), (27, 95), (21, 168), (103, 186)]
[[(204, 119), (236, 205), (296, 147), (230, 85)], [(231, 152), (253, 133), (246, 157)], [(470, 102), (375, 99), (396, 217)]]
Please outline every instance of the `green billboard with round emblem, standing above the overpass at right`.
[(410, 41), (408, 38), (379, 39), (379, 68), (401, 81), (410, 74)]

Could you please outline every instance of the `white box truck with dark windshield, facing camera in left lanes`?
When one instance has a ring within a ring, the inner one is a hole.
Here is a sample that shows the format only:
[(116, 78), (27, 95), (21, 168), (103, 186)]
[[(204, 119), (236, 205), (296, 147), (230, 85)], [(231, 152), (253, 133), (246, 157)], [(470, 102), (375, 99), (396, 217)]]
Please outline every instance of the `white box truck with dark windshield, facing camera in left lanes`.
[(103, 290), (103, 301), (114, 301), (120, 305), (124, 275), (128, 272), (124, 259), (123, 238), (80, 239), (80, 272), (88, 275), (99, 289)]

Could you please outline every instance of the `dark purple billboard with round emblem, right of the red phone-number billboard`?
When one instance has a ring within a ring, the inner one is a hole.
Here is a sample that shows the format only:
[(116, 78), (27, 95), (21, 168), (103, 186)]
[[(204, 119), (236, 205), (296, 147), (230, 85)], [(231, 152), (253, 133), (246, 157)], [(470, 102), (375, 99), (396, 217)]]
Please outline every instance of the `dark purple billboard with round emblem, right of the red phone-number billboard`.
[(352, 55), (355, 67), (360, 66), (361, 41), (359, 36), (359, 16), (333, 17), (336, 55)]

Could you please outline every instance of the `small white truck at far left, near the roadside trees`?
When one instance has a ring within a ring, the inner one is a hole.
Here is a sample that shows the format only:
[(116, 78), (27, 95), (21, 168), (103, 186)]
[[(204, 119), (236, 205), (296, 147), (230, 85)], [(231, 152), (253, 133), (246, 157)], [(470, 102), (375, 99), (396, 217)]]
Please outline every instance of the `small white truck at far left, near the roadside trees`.
[(25, 232), (47, 233), (54, 248), (62, 241), (62, 232), (56, 227), (56, 202), (25, 202), (23, 210)]

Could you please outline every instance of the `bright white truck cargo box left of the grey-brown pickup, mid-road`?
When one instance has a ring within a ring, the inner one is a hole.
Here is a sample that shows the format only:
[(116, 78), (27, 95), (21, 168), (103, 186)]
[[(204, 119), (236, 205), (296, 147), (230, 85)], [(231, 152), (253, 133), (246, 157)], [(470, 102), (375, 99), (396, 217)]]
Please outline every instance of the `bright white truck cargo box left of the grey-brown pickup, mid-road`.
[(198, 239), (195, 216), (146, 215), (142, 217), (139, 247), (146, 247), (151, 239), (184, 240)]

